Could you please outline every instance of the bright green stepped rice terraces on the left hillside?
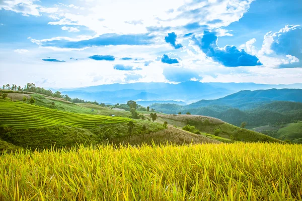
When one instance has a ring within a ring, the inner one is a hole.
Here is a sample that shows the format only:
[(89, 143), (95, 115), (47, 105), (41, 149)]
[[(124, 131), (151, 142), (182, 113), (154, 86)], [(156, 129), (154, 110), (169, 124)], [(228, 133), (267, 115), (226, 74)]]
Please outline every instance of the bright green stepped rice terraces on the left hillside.
[(130, 119), (122, 117), (75, 114), (20, 102), (0, 100), (0, 126), (6, 125), (14, 129), (55, 126), (58, 124), (91, 129), (104, 124), (128, 121)]

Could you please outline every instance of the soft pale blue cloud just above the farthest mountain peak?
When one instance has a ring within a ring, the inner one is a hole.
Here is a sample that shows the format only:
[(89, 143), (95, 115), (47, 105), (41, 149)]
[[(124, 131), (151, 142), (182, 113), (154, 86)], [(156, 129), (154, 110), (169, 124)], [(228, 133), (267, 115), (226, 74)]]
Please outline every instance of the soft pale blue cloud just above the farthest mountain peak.
[(183, 67), (166, 67), (163, 70), (163, 74), (168, 81), (175, 82), (202, 79), (202, 77), (196, 71)]

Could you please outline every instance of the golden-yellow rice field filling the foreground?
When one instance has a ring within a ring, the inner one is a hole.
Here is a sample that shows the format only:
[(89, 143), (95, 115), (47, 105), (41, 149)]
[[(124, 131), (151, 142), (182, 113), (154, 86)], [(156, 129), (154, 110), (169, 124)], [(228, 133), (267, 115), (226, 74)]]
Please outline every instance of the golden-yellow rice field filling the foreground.
[(302, 146), (80, 147), (0, 157), (0, 200), (301, 200)]

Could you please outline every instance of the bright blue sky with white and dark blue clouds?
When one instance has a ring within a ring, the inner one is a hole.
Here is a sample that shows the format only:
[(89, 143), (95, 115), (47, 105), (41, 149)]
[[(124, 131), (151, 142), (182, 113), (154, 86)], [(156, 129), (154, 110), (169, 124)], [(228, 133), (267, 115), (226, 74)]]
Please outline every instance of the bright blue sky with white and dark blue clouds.
[(0, 84), (302, 82), (300, 0), (0, 0)]

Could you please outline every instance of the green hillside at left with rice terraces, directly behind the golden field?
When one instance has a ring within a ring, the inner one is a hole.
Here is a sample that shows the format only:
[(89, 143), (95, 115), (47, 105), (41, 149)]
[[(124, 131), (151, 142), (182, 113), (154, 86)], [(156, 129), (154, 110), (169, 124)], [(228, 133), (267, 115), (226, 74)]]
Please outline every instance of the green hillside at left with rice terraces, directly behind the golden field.
[[(34, 96), (37, 97), (38, 95), (34, 94)], [(77, 105), (72, 105), (72, 107), (80, 108), (78, 112), (85, 109), (85, 107), (82, 109)], [(103, 108), (95, 107), (97, 110)], [(99, 112), (104, 114), (102, 110)], [(129, 114), (129, 112), (124, 113)], [(129, 133), (129, 121), (133, 122), (131, 133)], [(182, 130), (174, 131), (175, 129), (172, 127), (166, 129), (163, 124), (152, 123), (148, 120), (70, 113), (0, 99), (0, 152), (6, 149), (14, 151), (18, 147), (35, 150), (36, 148), (51, 148), (53, 146), (69, 148), (78, 144), (116, 143), (118, 146), (126, 143), (141, 145), (151, 142), (219, 143), (219, 141), (206, 136), (199, 136)]]

